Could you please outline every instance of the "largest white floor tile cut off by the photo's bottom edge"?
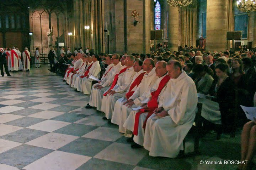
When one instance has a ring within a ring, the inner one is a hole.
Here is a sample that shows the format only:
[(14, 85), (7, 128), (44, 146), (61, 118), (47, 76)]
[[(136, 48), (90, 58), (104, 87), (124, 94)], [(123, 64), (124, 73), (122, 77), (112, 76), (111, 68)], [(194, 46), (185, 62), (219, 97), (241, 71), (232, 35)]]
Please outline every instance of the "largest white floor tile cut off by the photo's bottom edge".
[(26, 170), (75, 170), (82, 164), (86, 163), (91, 157), (54, 151), (25, 166)]

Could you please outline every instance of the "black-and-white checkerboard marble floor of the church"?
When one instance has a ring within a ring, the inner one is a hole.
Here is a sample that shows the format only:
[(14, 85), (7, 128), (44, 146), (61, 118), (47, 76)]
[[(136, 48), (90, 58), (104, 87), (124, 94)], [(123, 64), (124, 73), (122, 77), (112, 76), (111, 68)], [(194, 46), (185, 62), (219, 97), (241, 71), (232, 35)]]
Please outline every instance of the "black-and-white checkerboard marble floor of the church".
[[(89, 96), (65, 85), (62, 77), (14, 77), (0, 78), (0, 170), (235, 169), (199, 161), (240, 159), (239, 134), (218, 141), (204, 137), (198, 156), (150, 157), (143, 148), (130, 148), (101, 112), (86, 109)], [(192, 149), (191, 140), (186, 151)]]

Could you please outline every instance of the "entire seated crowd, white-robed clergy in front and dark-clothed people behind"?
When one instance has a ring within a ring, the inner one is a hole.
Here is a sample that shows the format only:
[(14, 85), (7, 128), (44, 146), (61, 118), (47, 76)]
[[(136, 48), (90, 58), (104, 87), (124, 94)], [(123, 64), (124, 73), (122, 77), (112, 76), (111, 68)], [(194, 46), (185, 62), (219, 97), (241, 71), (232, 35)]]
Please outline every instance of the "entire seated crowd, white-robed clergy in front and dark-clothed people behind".
[[(214, 130), (217, 139), (222, 133), (232, 137), (249, 121), (240, 104), (253, 106), (255, 59), (253, 51), (228, 50), (181, 49), (122, 57), (117, 53), (70, 53), (69, 64), (58, 69), (63, 70), (67, 85), (90, 95), (86, 108), (105, 113), (103, 119), (118, 125), (132, 148), (144, 147), (154, 157), (175, 158), (184, 149), (183, 140), (193, 126), (198, 94), (217, 103), (220, 112), (212, 115), (219, 116), (220, 124), (215, 124), (211, 116), (201, 117), (205, 133)], [(255, 140), (255, 134), (251, 134), (255, 125), (250, 121), (242, 131), (241, 160), (252, 161), (255, 146), (250, 141)]]

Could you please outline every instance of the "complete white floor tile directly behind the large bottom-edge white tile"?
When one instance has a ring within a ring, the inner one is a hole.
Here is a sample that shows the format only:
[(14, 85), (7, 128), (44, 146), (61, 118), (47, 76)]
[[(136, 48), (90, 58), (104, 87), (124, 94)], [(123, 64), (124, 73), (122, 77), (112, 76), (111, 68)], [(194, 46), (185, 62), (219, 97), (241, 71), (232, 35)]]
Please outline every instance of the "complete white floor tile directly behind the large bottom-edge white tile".
[(51, 132), (25, 144), (56, 150), (76, 140), (77, 138), (79, 137)]

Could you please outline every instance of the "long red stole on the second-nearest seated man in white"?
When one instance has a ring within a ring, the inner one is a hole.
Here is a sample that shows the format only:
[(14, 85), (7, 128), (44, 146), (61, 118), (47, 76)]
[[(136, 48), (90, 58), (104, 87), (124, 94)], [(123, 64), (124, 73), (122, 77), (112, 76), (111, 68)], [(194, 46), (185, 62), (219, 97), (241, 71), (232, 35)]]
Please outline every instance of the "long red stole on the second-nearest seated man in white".
[(151, 92), (151, 100), (147, 103), (148, 108), (147, 109), (140, 109), (140, 111), (138, 113), (136, 113), (134, 129), (133, 129), (133, 134), (134, 135), (136, 135), (136, 136), (138, 135), (140, 114), (148, 112), (148, 115), (147, 115), (147, 117), (146, 117), (146, 119), (143, 123), (143, 129), (146, 128), (146, 121), (154, 113), (154, 110), (156, 108), (158, 108), (158, 102), (157, 102), (158, 96), (159, 96), (160, 92), (162, 91), (162, 89), (165, 87), (165, 85), (168, 83), (169, 80), (170, 80), (170, 76), (165, 75), (165, 77), (160, 81), (158, 89), (156, 89), (156, 91)]

